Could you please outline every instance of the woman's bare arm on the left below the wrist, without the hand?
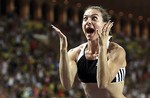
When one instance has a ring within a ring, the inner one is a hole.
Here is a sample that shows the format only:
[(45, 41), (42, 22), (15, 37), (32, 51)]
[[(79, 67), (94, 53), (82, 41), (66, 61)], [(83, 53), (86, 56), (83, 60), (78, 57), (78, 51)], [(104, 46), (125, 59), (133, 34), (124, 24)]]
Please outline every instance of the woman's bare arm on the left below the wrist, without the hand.
[(70, 50), (60, 50), (59, 74), (61, 84), (64, 88), (70, 89), (73, 86), (77, 73), (76, 62), (72, 59), (73, 53)]

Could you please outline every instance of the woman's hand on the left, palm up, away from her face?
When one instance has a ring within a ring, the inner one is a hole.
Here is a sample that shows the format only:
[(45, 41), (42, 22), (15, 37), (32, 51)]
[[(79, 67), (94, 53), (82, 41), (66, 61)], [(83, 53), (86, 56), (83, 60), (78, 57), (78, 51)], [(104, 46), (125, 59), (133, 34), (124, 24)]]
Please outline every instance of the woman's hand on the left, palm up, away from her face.
[(60, 39), (60, 50), (66, 50), (68, 47), (67, 37), (54, 25), (51, 27), (56, 31)]

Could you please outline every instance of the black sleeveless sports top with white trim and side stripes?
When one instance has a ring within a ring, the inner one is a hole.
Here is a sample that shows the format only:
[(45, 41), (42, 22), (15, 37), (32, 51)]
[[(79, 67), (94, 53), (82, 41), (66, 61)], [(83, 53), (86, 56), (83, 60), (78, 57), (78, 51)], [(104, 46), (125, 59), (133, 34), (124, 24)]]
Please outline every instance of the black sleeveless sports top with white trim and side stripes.
[[(83, 45), (83, 48), (81, 49), (79, 56), (77, 58), (77, 74), (79, 76), (79, 79), (84, 83), (96, 83), (96, 73), (97, 73), (97, 61), (95, 60), (87, 60), (85, 57), (85, 48), (87, 46), (87, 43)], [(107, 47), (109, 44), (107, 45)], [(112, 80), (112, 82), (120, 82), (124, 81), (125, 79), (126, 70), (125, 68), (120, 68), (118, 73), (116, 74), (115, 78)]]

